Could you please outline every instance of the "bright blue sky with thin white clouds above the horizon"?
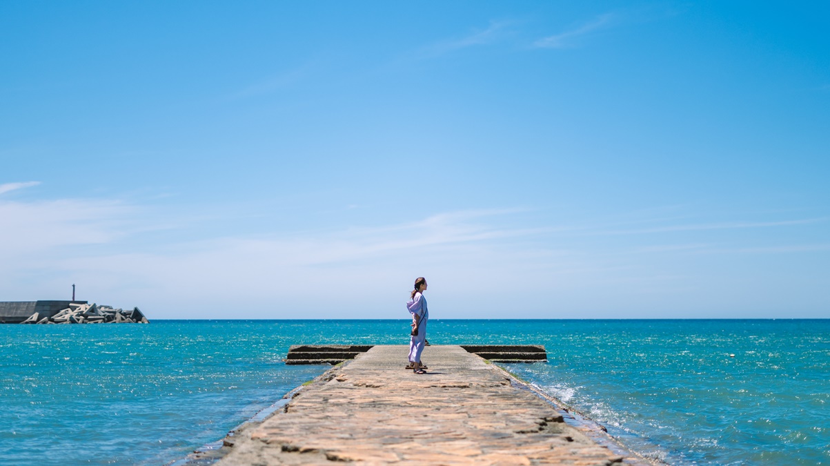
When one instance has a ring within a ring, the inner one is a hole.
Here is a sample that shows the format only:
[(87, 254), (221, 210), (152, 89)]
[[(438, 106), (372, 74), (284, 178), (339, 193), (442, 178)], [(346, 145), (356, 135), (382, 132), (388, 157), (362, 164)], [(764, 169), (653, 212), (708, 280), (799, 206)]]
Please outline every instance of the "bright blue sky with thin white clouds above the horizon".
[(0, 299), (830, 316), (822, 2), (2, 2)]

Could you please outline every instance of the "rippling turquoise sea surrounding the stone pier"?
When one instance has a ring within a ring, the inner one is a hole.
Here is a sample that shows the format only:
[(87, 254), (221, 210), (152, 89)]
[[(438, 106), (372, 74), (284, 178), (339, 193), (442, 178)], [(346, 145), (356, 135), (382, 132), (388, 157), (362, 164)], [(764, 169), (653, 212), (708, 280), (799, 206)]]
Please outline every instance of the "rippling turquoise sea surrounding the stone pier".
[[(407, 321), (2, 325), (0, 463), (168, 464), (327, 368), (285, 365), (290, 345), (407, 333)], [(670, 464), (830, 464), (830, 320), (432, 320), (428, 338), (544, 344), (549, 363), (505, 368)], [(428, 349), (424, 362), (440, 364)]]

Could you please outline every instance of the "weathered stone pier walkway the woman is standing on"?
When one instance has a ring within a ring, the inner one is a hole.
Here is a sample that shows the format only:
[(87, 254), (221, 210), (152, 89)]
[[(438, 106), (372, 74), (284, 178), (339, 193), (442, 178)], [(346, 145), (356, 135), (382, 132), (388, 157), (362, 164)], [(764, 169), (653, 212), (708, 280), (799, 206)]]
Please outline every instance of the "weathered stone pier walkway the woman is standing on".
[(460, 346), (374, 346), (300, 390), (262, 424), (226, 441), (218, 463), (574, 464), (624, 458), (565, 424), (554, 406)]

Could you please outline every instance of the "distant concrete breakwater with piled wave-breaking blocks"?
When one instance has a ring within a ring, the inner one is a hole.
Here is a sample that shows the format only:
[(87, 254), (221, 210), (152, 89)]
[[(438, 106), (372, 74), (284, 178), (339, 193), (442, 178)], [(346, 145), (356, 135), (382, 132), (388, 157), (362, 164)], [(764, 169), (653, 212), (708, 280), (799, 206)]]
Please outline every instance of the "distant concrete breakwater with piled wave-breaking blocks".
[(85, 301), (0, 302), (3, 324), (149, 323), (138, 307), (125, 311)]

